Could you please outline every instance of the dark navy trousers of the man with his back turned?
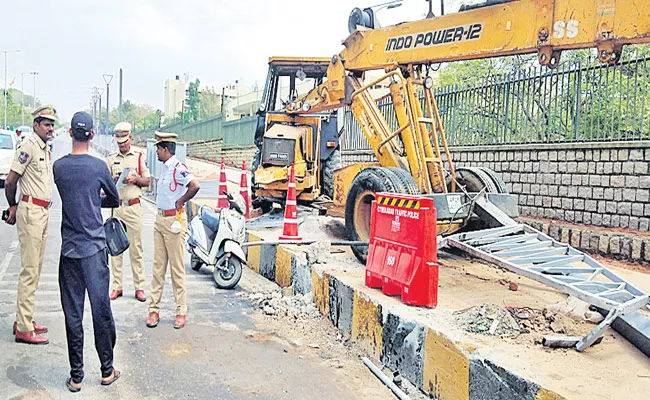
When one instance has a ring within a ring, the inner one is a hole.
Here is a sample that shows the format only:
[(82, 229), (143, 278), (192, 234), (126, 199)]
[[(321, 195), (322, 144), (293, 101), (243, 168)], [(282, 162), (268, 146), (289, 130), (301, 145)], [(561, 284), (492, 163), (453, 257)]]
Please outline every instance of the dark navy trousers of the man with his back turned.
[(68, 339), (70, 376), (75, 383), (81, 383), (84, 378), (83, 314), (86, 291), (93, 314), (95, 349), (99, 355), (102, 377), (106, 378), (113, 373), (116, 335), (111, 301), (108, 298), (109, 284), (110, 270), (106, 249), (86, 258), (59, 258), (59, 287)]

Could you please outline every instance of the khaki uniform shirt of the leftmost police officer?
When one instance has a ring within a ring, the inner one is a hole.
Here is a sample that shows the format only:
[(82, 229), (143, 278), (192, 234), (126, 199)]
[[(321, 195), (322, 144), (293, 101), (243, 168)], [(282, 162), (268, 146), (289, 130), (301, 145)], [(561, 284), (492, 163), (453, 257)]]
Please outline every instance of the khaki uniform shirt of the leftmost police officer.
[(11, 170), (20, 175), (20, 194), (40, 200), (52, 200), (52, 165), (47, 143), (36, 133), (25, 139), (16, 149)]

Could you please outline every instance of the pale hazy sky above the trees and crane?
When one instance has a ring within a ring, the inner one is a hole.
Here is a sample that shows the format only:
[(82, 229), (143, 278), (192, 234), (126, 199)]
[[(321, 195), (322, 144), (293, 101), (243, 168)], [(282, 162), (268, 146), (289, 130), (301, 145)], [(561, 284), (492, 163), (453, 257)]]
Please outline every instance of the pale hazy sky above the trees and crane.
[[(208, 86), (235, 80), (262, 86), (271, 56), (336, 54), (348, 36), (352, 8), (385, 1), (3, 1), (2, 13), (12, 23), (0, 34), (0, 57), (3, 50), (20, 50), (7, 54), (8, 83), (18, 90), (24, 84), (31, 95), (30, 72), (37, 71), (36, 96), (55, 105), (62, 121), (89, 108), (93, 86), (105, 90), (102, 74), (113, 75), (109, 102), (116, 107), (120, 68), (123, 100), (162, 109), (165, 79), (175, 75), (189, 74)], [(440, 3), (433, 1), (438, 15)], [(446, 0), (445, 12), (460, 3)], [(404, 0), (399, 8), (379, 11), (377, 19), (386, 26), (422, 19), (427, 11), (425, 0)], [(3, 87), (4, 72), (0, 59)]]

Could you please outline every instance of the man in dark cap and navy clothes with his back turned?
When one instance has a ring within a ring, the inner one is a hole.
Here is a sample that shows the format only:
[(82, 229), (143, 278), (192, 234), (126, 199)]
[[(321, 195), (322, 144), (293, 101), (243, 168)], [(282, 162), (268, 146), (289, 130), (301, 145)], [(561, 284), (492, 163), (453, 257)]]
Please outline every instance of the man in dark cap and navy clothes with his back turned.
[(54, 163), (54, 183), (63, 204), (59, 287), (70, 361), (66, 386), (71, 392), (81, 390), (84, 378), (82, 321), (86, 291), (101, 362), (101, 384), (110, 385), (120, 377), (120, 371), (113, 368), (116, 334), (108, 298), (110, 271), (101, 214), (101, 207), (118, 207), (119, 196), (106, 163), (88, 154), (93, 135), (90, 115), (76, 113), (70, 128), (72, 153)]

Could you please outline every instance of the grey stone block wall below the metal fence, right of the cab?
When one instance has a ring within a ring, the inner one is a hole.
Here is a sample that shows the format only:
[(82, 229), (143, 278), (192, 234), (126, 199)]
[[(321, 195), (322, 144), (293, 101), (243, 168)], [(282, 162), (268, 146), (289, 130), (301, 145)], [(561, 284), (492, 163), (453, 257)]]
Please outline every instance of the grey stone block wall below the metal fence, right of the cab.
[[(453, 148), (457, 167), (496, 171), (522, 216), (606, 228), (650, 229), (650, 141)], [(344, 152), (344, 164), (372, 161)]]

